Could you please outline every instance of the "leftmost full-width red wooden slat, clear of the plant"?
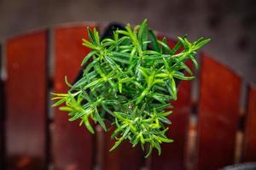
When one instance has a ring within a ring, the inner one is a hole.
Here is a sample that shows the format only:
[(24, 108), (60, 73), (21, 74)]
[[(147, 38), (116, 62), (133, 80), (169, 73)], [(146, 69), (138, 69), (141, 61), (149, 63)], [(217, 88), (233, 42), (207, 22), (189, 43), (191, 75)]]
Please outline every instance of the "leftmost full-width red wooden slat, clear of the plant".
[(44, 169), (47, 31), (7, 42), (6, 154), (9, 169)]

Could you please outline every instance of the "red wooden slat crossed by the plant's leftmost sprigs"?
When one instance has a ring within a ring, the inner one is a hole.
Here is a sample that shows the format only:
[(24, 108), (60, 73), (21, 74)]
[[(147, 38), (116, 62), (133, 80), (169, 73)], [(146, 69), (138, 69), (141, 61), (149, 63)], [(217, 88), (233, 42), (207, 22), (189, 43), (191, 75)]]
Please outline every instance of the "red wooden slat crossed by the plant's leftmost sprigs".
[[(64, 77), (73, 82), (80, 64), (89, 49), (82, 46), (82, 38), (88, 39), (86, 27), (59, 26), (55, 28), (55, 92), (67, 93)], [(95, 27), (91, 24), (90, 27)], [(92, 169), (93, 136), (79, 122), (68, 122), (67, 112), (55, 109), (53, 135), (53, 159), (55, 169)]]

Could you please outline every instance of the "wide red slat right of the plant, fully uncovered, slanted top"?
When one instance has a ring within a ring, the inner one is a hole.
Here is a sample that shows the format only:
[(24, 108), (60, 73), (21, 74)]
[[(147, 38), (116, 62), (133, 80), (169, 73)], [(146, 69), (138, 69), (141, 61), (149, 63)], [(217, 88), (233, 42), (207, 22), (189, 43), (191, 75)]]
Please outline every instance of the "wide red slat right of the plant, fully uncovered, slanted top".
[(198, 120), (198, 169), (234, 162), (241, 78), (206, 54), (202, 56)]

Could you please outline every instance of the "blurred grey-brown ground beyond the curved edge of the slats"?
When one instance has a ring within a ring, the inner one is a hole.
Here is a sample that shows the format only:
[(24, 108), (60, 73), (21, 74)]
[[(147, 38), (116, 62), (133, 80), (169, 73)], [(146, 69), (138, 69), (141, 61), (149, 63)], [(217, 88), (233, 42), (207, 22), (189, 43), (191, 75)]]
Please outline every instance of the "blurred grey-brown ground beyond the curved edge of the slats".
[(149, 26), (172, 37), (211, 37), (205, 51), (256, 82), (255, 0), (0, 0), (0, 41), (80, 21), (119, 21)]

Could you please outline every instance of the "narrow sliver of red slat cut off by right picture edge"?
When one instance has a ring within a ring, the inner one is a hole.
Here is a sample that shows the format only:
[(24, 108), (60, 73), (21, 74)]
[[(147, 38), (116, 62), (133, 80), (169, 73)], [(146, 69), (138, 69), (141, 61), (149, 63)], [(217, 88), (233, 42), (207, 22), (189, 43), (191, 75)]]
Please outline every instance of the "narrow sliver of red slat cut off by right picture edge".
[(256, 161), (256, 88), (250, 86), (247, 99), (247, 122), (243, 161)]

